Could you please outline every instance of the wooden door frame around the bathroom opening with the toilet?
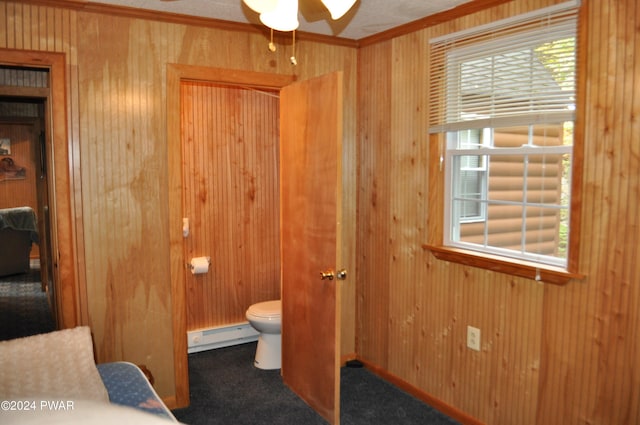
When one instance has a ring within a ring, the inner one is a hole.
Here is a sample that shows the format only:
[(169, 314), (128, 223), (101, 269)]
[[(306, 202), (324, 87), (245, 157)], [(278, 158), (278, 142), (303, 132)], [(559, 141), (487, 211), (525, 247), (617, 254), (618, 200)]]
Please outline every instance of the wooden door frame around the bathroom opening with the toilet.
[(270, 74), (235, 69), (167, 64), (167, 157), (169, 199), (169, 261), (171, 277), (171, 307), (173, 317), (173, 362), (175, 407), (189, 405), (189, 367), (187, 355), (187, 310), (184, 270), (182, 216), (182, 81), (201, 81), (230, 86), (280, 90), (295, 81), (293, 75)]

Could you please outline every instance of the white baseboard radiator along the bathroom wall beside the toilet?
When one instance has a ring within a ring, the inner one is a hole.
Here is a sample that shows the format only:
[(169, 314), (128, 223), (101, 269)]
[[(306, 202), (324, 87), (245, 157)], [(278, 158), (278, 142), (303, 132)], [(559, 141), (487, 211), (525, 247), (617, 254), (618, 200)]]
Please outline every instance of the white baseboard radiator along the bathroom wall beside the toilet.
[(187, 352), (198, 353), (200, 351), (229, 347), (247, 342), (257, 341), (258, 332), (249, 322), (234, 323), (209, 329), (198, 329), (187, 332)]

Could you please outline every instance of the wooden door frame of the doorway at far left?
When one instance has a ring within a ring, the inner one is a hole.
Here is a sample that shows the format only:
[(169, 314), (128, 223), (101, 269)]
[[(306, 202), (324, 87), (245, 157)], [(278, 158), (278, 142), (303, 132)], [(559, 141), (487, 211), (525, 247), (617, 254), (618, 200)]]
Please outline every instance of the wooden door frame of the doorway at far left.
[[(10, 70), (0, 79), (0, 96), (36, 99), (44, 109), (44, 147), (42, 164), (46, 171), (47, 196), (50, 208), (43, 221), (49, 230), (47, 273), (49, 290), (55, 293), (53, 310), (58, 329), (73, 328), (87, 323), (84, 289), (78, 285), (76, 244), (82, 243), (82, 231), (75, 228), (73, 205), (80, 197), (80, 187), (73, 187), (76, 170), (70, 155), (72, 139), (67, 129), (66, 60), (63, 53), (0, 49), (0, 66)], [(38, 73), (16, 73), (16, 70), (36, 70)], [(35, 75), (44, 78), (34, 82)], [(27, 78), (26, 76), (29, 76)], [(22, 81), (20, 81), (22, 80)], [(79, 164), (77, 164), (79, 167)], [(38, 168), (38, 167), (36, 167)], [(81, 246), (80, 246), (81, 248)], [(41, 255), (41, 254), (40, 254)]]

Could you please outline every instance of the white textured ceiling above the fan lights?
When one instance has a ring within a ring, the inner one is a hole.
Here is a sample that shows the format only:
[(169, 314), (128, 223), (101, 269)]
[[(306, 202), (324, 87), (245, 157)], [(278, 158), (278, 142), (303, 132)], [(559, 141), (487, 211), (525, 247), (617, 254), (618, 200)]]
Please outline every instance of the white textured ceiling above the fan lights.
[[(321, 0), (299, 0), (298, 30), (358, 40), (472, 0), (358, 0), (340, 20), (333, 21)], [(242, 0), (89, 0), (225, 21), (260, 24), (258, 14)]]

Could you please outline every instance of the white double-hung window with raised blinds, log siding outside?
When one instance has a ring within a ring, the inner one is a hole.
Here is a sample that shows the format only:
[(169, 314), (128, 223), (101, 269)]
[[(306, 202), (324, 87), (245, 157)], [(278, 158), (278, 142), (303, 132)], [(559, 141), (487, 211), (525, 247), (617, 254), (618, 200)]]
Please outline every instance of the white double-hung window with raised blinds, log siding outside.
[(565, 3), (432, 40), (444, 247), (568, 269), (577, 10)]

